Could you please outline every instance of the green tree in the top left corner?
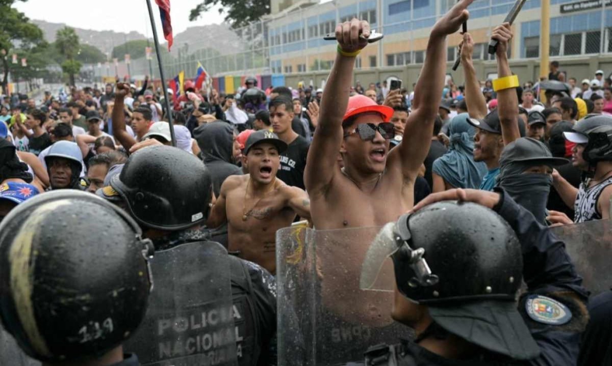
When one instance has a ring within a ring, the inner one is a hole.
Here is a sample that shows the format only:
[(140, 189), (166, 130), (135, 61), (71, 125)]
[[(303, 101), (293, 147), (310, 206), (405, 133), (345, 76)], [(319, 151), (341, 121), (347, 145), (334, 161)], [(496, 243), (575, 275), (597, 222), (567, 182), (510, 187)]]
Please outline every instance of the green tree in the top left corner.
[[(2, 79), (4, 93), (9, 91), (9, 73), (21, 67), (21, 63), (17, 65), (9, 64), (10, 55), (21, 54), (26, 56), (31, 52), (40, 51), (46, 45), (40, 28), (30, 23), (29, 18), (23, 13), (12, 8), (12, 5), (17, 1), (24, 2), (27, 0), (0, 0), (0, 57), (2, 59), (2, 73), (4, 74)], [(19, 45), (19, 47), (15, 45)], [(29, 60), (28, 65), (30, 65)]]

